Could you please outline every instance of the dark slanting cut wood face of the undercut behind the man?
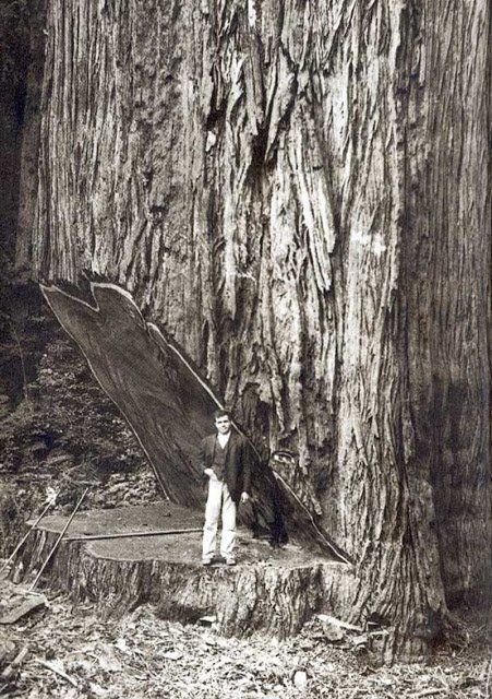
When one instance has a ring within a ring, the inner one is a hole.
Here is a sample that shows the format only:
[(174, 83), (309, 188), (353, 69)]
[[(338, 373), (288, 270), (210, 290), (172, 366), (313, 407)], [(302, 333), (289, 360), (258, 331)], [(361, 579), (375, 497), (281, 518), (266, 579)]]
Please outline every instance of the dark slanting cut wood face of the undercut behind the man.
[[(178, 505), (204, 505), (197, 467), (203, 437), (221, 402), (182, 350), (148, 325), (132, 296), (115, 284), (93, 283), (93, 305), (61, 288), (41, 286), (62, 327), (80, 345), (94, 375), (132, 426), (164, 494)], [(250, 442), (252, 499), (239, 517), (276, 543), (290, 531), (348, 562), (320, 522), (320, 513), (260, 460)], [(312, 508), (311, 508), (312, 509)]]

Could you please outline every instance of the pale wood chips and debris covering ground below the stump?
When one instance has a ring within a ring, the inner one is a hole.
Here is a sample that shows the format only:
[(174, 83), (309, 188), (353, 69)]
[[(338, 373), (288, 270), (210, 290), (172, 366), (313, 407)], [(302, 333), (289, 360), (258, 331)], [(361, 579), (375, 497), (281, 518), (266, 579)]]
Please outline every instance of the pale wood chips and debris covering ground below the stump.
[(151, 606), (103, 623), (88, 604), (47, 596), (48, 609), (0, 627), (0, 696), (485, 699), (490, 691), (484, 637), (428, 664), (386, 667), (326, 641), (316, 618), (288, 641), (226, 639), (214, 626), (161, 620)]

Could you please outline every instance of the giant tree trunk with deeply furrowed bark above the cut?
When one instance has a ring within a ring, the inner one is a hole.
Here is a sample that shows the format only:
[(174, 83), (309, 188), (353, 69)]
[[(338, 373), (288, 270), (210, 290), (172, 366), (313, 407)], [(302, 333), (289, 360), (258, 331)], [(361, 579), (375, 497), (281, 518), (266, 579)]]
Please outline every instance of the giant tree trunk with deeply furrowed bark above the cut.
[(19, 265), (132, 292), (299, 451), (418, 652), (490, 576), (485, 0), (47, 0)]

